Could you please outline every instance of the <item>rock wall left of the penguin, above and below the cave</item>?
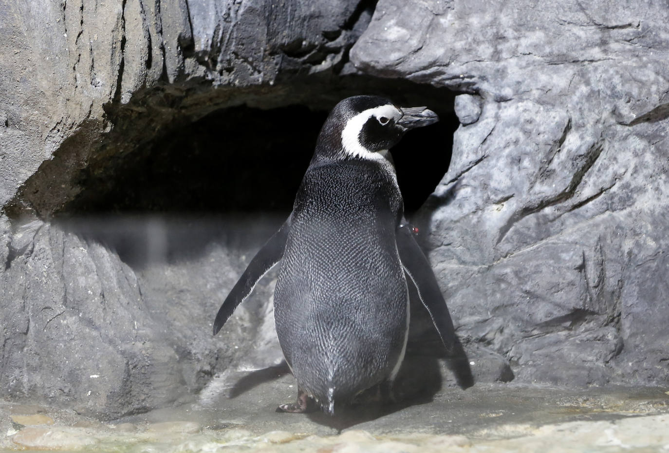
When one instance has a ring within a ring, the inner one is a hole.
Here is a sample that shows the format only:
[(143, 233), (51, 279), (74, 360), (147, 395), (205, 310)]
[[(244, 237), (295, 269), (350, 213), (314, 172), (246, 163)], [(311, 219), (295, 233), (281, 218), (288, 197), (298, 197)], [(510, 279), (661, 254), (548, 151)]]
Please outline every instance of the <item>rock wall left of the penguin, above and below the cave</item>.
[[(114, 418), (191, 398), (225, 369), (237, 343), (248, 347), (262, 325), (254, 302), (227, 335), (210, 333), (221, 294), (250, 256), (240, 258), (263, 240), (246, 226), (252, 239), (235, 242), (227, 232), (209, 248), (210, 236), (200, 242), (191, 230), (183, 242), (180, 230), (171, 265), (163, 252), (173, 236), (160, 221), (117, 224), (110, 238), (96, 236), (94, 220), (48, 220), (86, 184), (113, 187), (119, 157), (133, 161), (175, 126), (244, 102), (308, 97), (304, 89), (293, 96), (284, 80), (339, 72), (371, 18), (368, 6), (0, 4), (3, 395)], [(140, 248), (138, 268), (116, 252), (127, 252), (128, 237)], [(142, 274), (147, 262), (153, 267)]]

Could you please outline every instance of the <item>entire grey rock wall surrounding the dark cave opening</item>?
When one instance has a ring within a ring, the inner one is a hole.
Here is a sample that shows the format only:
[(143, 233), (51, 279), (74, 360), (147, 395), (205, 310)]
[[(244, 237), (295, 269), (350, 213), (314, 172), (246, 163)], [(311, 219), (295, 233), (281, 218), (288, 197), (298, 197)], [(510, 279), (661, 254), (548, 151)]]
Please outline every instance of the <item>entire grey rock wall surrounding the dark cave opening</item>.
[[(612, 0), (0, 3), (0, 394), (114, 418), (192, 398), (267, 343), (271, 279), (221, 337), (209, 324), (277, 219), (53, 219), (150, 165), (169, 132), (373, 90), (451, 108), (445, 89), (461, 124), (416, 221), (489, 368), (475, 376), (508, 380), (510, 363), (523, 382), (666, 385), (668, 15)], [(117, 252), (128, 235), (153, 258)], [(266, 351), (255, 365), (274, 364)]]

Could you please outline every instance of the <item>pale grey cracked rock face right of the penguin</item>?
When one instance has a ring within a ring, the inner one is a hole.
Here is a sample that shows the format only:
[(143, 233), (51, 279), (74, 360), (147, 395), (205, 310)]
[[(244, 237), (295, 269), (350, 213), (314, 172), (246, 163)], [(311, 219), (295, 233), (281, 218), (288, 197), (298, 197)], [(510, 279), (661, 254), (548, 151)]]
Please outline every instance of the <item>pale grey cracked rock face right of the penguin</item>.
[(456, 100), (421, 217), (458, 333), (522, 381), (666, 383), (668, 11), (478, 6), (381, 0), (351, 51), (482, 104), (472, 123)]

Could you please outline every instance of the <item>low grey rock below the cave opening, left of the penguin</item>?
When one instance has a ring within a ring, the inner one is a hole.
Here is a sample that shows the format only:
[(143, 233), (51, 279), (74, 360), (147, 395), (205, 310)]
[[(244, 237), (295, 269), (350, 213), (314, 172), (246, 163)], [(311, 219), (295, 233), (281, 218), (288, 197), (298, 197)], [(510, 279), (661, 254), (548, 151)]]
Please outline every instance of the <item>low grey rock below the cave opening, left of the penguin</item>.
[[(262, 314), (254, 302), (237, 314), (240, 321), (232, 321), (229, 331), (211, 337), (211, 313), (234, 282), (226, 270), (239, 270), (250, 259), (239, 255), (247, 250), (246, 241), (257, 241), (248, 228), (242, 239), (240, 228), (219, 225), (236, 244), (231, 250), (206, 246), (195, 264), (171, 266), (166, 254), (181, 260), (183, 250), (165, 249), (161, 237), (184, 231), (175, 233), (159, 221), (153, 228), (136, 225), (145, 233), (140, 241), (153, 238), (147, 241), (153, 266), (139, 273), (145, 282), (140, 288), (135, 271), (118, 254), (87, 240), (80, 225), (80, 230), (68, 225), (33, 221), (13, 234), (12, 260), (0, 274), (5, 395), (41, 403), (66, 400), (78, 412), (116, 418), (191, 399), (214, 369), (225, 369), (235, 347), (250, 347), (244, 339), (260, 325), (256, 311)], [(94, 227), (87, 228), (90, 236)], [(114, 231), (128, 236), (132, 225)], [(258, 296), (270, 294), (259, 288)]]

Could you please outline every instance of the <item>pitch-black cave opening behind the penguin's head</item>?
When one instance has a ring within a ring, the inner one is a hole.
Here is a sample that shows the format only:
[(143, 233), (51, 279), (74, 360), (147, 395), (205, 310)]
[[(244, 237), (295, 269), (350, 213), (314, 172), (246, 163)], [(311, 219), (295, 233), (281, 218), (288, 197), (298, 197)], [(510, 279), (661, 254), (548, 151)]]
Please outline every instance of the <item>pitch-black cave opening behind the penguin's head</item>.
[[(458, 126), (452, 103), (419, 100), (440, 122), (410, 131), (391, 150), (407, 215), (446, 173)], [(327, 114), (303, 105), (217, 110), (118, 159), (112, 173), (84, 173), (84, 190), (64, 212), (289, 213)]]

